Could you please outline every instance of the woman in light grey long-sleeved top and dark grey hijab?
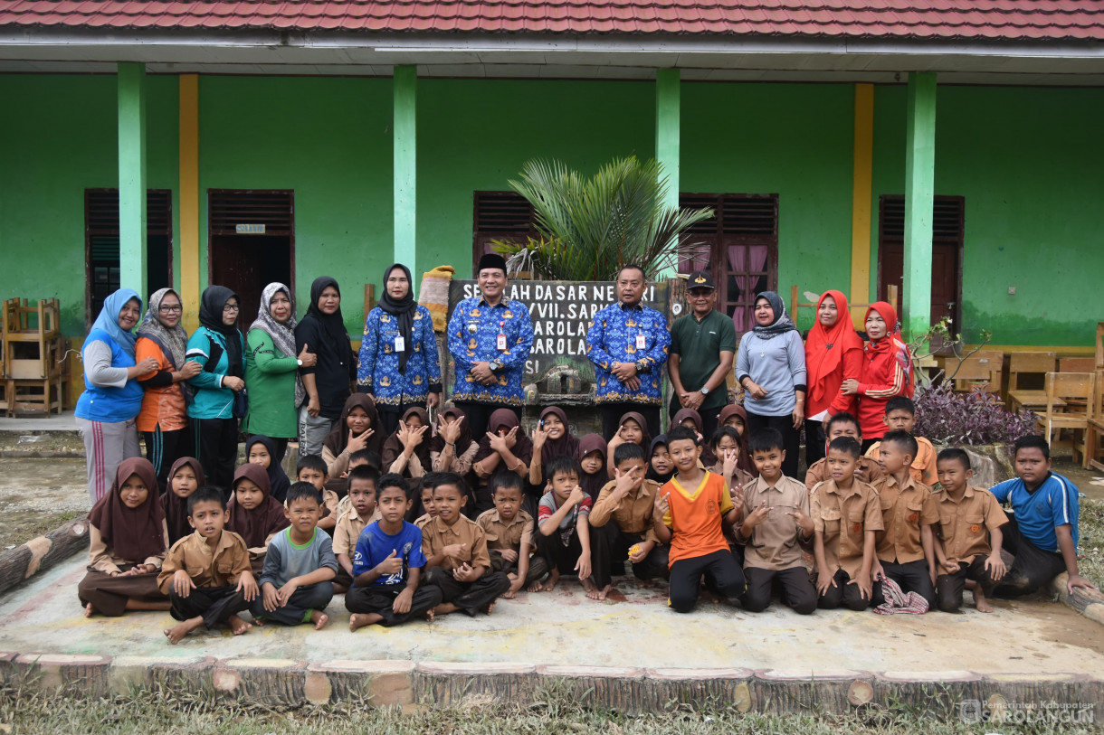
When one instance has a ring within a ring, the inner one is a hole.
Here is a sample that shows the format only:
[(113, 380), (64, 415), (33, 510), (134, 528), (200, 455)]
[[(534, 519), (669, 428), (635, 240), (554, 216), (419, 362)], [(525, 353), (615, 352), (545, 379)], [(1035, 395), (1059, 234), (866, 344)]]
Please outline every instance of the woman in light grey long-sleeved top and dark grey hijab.
[(777, 429), (786, 451), (782, 471), (796, 477), (805, 420), (805, 345), (774, 291), (755, 297), (755, 327), (740, 340), (736, 381), (746, 391), (747, 430)]

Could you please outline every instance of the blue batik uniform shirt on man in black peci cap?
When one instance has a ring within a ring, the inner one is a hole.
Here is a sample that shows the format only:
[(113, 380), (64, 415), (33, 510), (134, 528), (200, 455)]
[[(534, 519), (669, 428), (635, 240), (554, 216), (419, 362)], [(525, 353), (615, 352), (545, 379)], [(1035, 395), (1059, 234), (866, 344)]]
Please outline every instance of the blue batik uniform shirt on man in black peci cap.
[[(498, 349), (498, 335), (506, 335), (506, 350)], [(456, 305), (448, 320), (448, 352), (456, 364), (453, 401), (475, 401), (503, 406), (524, 405), (521, 380), (533, 348), (533, 322), (521, 301), (502, 298), (488, 306), (481, 296)], [(498, 382), (484, 385), (471, 377), (477, 362), (499, 362)]]

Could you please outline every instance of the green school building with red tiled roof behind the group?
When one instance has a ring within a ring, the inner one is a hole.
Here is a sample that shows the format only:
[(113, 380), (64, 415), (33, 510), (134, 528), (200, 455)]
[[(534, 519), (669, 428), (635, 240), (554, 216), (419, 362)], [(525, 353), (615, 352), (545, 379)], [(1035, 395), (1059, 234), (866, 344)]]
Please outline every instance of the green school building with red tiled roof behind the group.
[(527, 160), (635, 155), (718, 210), (739, 331), (756, 290), (892, 284), (907, 330), (1091, 351), (1098, 3), (907, 4), (2, 0), (0, 297), (57, 298), (79, 344), (120, 284), (172, 285), (189, 327), (224, 284), (244, 327), (266, 283), (301, 315), (332, 275), (355, 335), (392, 262), (469, 277), (532, 232)]

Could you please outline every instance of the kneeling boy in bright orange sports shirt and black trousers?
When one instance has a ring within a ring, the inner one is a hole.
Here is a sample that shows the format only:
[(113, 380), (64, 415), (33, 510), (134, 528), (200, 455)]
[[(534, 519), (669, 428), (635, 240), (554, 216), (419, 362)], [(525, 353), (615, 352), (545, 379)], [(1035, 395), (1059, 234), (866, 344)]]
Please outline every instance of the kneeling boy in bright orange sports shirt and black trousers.
[[(670, 544), (671, 587), (668, 604), (689, 612), (698, 603), (698, 587), (705, 586), (726, 601), (740, 599), (744, 575), (736, 564), (722, 525), (740, 520), (740, 510), (720, 476), (698, 465), (698, 437), (677, 427), (667, 435), (676, 475), (656, 496), (652, 529), (660, 543)], [(741, 503), (743, 498), (739, 498)]]

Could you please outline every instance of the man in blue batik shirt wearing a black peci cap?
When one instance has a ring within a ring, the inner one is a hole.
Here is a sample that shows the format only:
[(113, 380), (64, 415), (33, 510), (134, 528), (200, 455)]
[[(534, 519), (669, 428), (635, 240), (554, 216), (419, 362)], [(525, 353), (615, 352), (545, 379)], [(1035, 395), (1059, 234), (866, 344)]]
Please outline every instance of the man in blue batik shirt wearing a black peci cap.
[(457, 303), (448, 320), (448, 352), (456, 365), (453, 403), (478, 439), (497, 408), (510, 408), (521, 420), (521, 379), (533, 347), (533, 322), (524, 303), (505, 297), (501, 255), (484, 255), (476, 278), (479, 296)]

